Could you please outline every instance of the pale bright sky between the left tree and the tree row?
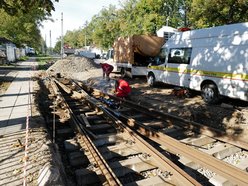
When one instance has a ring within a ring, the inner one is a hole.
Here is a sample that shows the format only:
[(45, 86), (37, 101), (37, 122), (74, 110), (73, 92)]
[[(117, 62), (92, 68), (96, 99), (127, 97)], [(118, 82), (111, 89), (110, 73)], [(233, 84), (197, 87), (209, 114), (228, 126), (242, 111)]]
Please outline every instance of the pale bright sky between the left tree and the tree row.
[(63, 35), (67, 31), (83, 28), (86, 21), (98, 14), (102, 8), (110, 4), (118, 7), (118, 0), (59, 0), (54, 3), (55, 11), (52, 12), (52, 21), (44, 21), (40, 27), (41, 35), (46, 40), (48, 47), (54, 47), (57, 39), (62, 34), (61, 18), (63, 13)]

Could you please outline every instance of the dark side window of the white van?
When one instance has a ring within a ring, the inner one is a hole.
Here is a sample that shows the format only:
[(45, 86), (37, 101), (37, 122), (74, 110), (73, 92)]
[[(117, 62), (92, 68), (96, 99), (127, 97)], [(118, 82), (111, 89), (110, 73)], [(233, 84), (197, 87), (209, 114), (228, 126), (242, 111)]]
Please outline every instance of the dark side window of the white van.
[(170, 49), (168, 63), (189, 64), (192, 48)]

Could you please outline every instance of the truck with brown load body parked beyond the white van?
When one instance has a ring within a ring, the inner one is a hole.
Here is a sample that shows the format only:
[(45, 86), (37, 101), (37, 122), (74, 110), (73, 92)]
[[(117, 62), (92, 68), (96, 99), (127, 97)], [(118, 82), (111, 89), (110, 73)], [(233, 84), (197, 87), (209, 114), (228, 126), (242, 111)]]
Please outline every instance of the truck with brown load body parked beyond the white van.
[(147, 66), (154, 61), (165, 43), (163, 37), (133, 35), (119, 37), (107, 53), (107, 62), (120, 72), (122, 77), (146, 76)]

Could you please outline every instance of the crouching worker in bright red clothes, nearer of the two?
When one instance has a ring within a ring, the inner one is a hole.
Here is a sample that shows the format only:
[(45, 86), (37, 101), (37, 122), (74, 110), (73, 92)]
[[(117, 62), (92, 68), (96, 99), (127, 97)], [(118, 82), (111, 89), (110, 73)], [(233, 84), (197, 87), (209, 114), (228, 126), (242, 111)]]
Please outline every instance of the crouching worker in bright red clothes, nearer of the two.
[(131, 87), (123, 79), (115, 81), (115, 95), (120, 98), (126, 98), (131, 93)]

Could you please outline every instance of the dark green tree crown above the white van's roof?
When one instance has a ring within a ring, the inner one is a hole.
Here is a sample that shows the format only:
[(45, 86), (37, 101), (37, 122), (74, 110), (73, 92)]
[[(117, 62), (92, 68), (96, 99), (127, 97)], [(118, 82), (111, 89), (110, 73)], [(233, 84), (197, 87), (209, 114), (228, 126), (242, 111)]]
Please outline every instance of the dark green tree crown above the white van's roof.
[(248, 21), (247, 0), (193, 0), (189, 12), (195, 28)]

